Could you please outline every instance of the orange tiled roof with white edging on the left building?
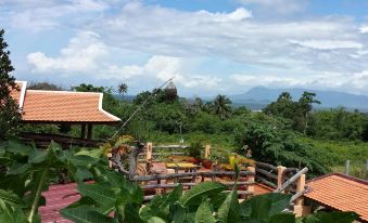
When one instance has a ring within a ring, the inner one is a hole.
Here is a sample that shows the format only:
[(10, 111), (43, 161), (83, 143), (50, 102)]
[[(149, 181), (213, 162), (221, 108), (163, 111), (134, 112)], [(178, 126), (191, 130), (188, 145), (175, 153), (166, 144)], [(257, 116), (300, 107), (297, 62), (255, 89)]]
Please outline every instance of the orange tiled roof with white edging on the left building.
[(23, 121), (37, 122), (118, 122), (119, 118), (102, 109), (102, 93), (73, 91), (26, 90), (26, 82), (17, 82), (22, 91), (13, 91), (22, 108)]

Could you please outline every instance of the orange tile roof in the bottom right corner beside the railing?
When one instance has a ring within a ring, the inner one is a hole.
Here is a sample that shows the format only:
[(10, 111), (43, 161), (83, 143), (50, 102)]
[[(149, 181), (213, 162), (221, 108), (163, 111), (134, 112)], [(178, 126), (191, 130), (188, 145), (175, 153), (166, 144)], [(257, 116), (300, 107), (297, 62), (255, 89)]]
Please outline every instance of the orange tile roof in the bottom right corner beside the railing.
[(368, 181), (340, 173), (314, 179), (305, 197), (341, 211), (355, 211), (368, 221)]

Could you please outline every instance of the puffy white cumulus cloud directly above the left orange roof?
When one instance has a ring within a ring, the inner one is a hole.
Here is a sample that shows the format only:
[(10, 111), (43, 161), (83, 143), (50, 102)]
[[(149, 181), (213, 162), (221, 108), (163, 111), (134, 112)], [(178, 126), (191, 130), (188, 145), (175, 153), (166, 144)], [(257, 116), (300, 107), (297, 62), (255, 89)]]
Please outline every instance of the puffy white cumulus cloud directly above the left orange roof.
[(106, 45), (100, 41), (97, 34), (81, 31), (61, 50), (60, 56), (49, 57), (42, 52), (34, 52), (27, 55), (27, 60), (34, 66), (34, 73), (59, 73), (69, 76), (72, 73), (88, 73), (98, 68), (98, 60), (106, 53)]

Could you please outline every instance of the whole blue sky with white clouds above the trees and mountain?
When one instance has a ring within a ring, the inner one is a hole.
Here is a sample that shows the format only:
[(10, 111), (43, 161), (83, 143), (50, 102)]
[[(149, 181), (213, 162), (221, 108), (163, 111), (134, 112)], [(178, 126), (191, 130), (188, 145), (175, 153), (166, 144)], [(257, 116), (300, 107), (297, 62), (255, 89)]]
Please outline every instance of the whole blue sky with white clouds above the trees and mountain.
[(368, 0), (0, 0), (17, 79), (368, 95)]

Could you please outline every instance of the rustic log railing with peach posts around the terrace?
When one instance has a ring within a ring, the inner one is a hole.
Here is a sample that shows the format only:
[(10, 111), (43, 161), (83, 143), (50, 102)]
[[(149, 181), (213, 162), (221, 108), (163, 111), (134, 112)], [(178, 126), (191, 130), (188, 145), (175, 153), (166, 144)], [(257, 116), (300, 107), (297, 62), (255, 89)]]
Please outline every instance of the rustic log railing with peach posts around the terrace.
[[(188, 146), (182, 145), (167, 145), (167, 146), (153, 146), (152, 143), (145, 145), (145, 149), (138, 149), (132, 147), (130, 153), (130, 167), (129, 170), (125, 170), (119, 160), (116, 160), (114, 157), (110, 158), (110, 161), (114, 163), (115, 169), (120, 173), (125, 174), (130, 181), (140, 182), (142, 189), (169, 189), (179, 185), (180, 180), (187, 180), (187, 182), (181, 182), (181, 185), (186, 188), (195, 186), (198, 183), (203, 181), (218, 181), (224, 176), (229, 178), (225, 182), (228, 187), (233, 187), (234, 182), (230, 179), (233, 179), (233, 171), (208, 171), (200, 172), (194, 170), (193, 172), (178, 172), (175, 171), (172, 173), (154, 173), (154, 171), (148, 171), (148, 175), (138, 175), (137, 174), (137, 165), (138, 157), (140, 154), (143, 154), (144, 161), (151, 163), (153, 160), (153, 148), (164, 148), (164, 149), (185, 149)], [(206, 145), (204, 147), (205, 156), (208, 157), (211, 153), (211, 146)], [(293, 197), (290, 202), (294, 204), (297, 207), (303, 206), (303, 195), (307, 192), (305, 186), (305, 173), (308, 171), (307, 168), (299, 170), (296, 168), (285, 168), (282, 166), (275, 167), (265, 162), (255, 162), (255, 167), (248, 167), (246, 171), (240, 171), (240, 180), (237, 183), (241, 189), (238, 189), (238, 195), (252, 196), (254, 194), (254, 185), (256, 182), (259, 182), (264, 185), (267, 185), (274, 188), (274, 192), (278, 193), (292, 193)], [(243, 181), (242, 181), (243, 180)], [(165, 182), (163, 182), (165, 181)], [(188, 182), (189, 181), (189, 182)], [(152, 199), (153, 196), (147, 196), (144, 199)], [(297, 213), (299, 214), (299, 213)]]

